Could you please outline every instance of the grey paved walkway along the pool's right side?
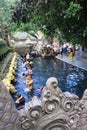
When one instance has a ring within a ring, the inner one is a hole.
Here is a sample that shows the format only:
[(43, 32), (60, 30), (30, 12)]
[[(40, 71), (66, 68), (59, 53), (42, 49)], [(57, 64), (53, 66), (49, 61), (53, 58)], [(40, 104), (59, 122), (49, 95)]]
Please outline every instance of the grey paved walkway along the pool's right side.
[(63, 57), (58, 55), (56, 58), (87, 71), (87, 52), (76, 51), (73, 61), (70, 61), (69, 54)]

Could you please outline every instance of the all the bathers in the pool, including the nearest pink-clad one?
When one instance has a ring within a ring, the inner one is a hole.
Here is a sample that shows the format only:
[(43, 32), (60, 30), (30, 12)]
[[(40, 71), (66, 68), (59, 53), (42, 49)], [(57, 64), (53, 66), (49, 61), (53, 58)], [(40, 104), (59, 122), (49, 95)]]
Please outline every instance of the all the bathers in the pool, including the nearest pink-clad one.
[[(38, 96), (40, 97), (45, 85), (35, 90), (33, 80), (33, 57), (29, 53), (26, 53), (24, 56), (21, 56), (21, 60), (23, 63), (23, 68), (25, 69), (21, 73), (20, 77), (23, 78), (25, 85), (28, 88), (28, 97), (31, 99), (34, 96), (35, 92), (38, 93)], [(23, 97), (22, 94), (17, 95), (15, 100), (16, 106), (22, 105), (23, 103), (25, 103), (25, 97)]]

